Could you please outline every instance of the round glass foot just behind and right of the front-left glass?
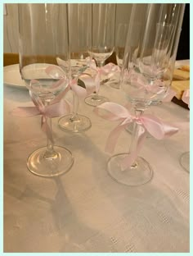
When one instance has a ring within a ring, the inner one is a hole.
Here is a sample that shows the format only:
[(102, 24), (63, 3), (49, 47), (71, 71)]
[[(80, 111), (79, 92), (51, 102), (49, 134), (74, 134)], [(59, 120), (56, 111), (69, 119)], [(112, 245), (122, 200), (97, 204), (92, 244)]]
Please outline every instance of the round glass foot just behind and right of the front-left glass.
[(59, 119), (58, 126), (65, 131), (82, 132), (90, 129), (92, 123), (88, 117), (84, 117), (83, 115), (77, 115), (76, 117), (67, 115)]

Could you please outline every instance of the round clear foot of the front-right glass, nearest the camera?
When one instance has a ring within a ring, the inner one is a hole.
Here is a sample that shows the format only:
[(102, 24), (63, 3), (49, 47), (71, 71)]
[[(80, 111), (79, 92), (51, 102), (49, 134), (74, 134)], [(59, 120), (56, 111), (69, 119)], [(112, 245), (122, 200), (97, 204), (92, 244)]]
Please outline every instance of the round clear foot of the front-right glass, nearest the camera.
[(130, 186), (143, 185), (150, 181), (153, 177), (153, 170), (144, 158), (138, 157), (132, 167), (121, 170), (120, 162), (127, 156), (128, 153), (119, 153), (107, 162), (107, 170), (114, 181)]

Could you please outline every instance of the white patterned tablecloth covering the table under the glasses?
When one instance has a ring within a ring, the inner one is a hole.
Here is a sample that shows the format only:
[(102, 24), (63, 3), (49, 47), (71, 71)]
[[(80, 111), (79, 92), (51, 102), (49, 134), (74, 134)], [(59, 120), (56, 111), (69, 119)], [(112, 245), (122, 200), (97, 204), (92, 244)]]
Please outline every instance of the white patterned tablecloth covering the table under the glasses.
[[(101, 94), (124, 104), (123, 92), (103, 85)], [(53, 120), (56, 144), (74, 155), (74, 166), (57, 178), (34, 176), (29, 153), (46, 144), (40, 117), (13, 117), (33, 106), (25, 89), (4, 85), (4, 252), (189, 252), (189, 173), (178, 158), (189, 150), (189, 111), (174, 103), (151, 107), (180, 124), (177, 135), (146, 139), (140, 155), (154, 169), (152, 181), (128, 187), (110, 178), (105, 139), (116, 123), (96, 117), (80, 103), (92, 128), (67, 133)], [(128, 152), (123, 131), (114, 153)]]

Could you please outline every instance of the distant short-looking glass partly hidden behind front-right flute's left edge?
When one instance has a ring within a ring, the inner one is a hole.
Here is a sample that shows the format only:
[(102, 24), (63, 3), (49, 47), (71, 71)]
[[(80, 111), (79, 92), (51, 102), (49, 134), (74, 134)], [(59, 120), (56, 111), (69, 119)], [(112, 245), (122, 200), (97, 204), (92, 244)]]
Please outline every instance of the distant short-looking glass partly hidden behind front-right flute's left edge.
[(111, 77), (111, 83), (110, 86), (114, 89), (119, 89), (120, 85), (120, 75), (121, 75), (121, 69), (123, 65), (123, 55), (124, 55), (124, 48), (125, 43), (128, 35), (128, 24), (127, 23), (119, 23), (118, 29), (115, 31), (115, 56), (117, 65), (119, 66), (119, 72), (116, 72)]

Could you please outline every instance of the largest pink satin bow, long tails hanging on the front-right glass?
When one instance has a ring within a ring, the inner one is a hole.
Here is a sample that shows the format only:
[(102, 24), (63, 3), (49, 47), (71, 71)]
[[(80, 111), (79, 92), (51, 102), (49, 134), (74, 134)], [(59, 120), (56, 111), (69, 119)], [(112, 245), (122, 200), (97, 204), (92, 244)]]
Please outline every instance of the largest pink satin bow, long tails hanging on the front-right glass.
[[(99, 114), (99, 109), (103, 109), (108, 112), (108, 114)], [(144, 114), (141, 117), (133, 117), (126, 107), (123, 107), (117, 103), (102, 103), (98, 107), (95, 107), (94, 112), (96, 115), (109, 120), (109, 121), (120, 121), (119, 125), (110, 132), (107, 138), (105, 151), (112, 153), (114, 151), (115, 144), (121, 131), (132, 122), (137, 122), (141, 125), (143, 129), (140, 130), (137, 137), (137, 147), (131, 152), (128, 157), (124, 158), (120, 163), (122, 170), (130, 167), (132, 163), (136, 160), (137, 155), (141, 149), (141, 146), (146, 138), (146, 130), (155, 137), (155, 139), (164, 139), (171, 135), (174, 135), (178, 128), (173, 127), (161, 121), (159, 118), (154, 117), (150, 114)]]

